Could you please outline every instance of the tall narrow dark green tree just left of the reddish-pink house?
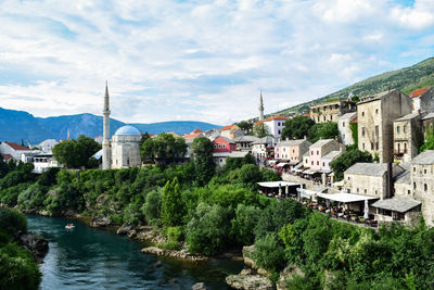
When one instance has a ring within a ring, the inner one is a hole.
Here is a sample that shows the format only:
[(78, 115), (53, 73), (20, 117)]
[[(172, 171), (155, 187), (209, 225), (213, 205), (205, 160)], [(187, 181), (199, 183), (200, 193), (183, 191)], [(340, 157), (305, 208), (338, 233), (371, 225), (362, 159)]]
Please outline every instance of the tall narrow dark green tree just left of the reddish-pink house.
[(206, 137), (199, 137), (192, 142), (191, 150), (194, 152), (196, 181), (199, 186), (205, 186), (209, 182), (216, 171), (216, 164), (213, 160), (213, 143)]

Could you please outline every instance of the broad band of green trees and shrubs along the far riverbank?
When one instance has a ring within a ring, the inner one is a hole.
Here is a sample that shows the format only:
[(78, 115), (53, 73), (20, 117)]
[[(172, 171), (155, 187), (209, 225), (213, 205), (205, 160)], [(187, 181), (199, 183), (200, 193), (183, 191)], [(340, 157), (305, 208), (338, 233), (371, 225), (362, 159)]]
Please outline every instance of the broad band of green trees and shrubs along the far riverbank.
[(288, 289), (434, 287), (434, 229), (423, 220), (378, 231), (340, 223), (294, 200), (257, 194), (257, 181), (280, 177), (252, 156), (228, 159), (218, 169), (205, 151), (181, 165), (52, 168), (39, 177), (27, 164), (1, 164), (0, 200), (22, 211), (148, 224), (167, 237), (164, 249), (186, 242), (192, 253), (214, 255), (254, 244), (251, 257), (272, 280), (288, 266), (297, 269), (281, 282)]

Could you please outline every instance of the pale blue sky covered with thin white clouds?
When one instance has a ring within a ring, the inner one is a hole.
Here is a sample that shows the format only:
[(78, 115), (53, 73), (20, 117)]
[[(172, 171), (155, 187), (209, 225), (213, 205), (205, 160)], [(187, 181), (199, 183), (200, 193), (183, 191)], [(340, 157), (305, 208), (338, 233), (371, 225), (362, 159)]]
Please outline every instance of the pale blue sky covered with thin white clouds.
[(433, 0), (0, 0), (0, 106), (217, 125), (434, 56)]

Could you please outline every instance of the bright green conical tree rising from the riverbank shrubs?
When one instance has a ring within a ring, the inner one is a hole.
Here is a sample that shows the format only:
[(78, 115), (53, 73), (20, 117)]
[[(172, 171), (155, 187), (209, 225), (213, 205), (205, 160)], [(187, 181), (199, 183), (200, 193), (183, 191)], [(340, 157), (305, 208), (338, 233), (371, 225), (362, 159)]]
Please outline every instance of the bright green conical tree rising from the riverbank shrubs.
[(167, 181), (162, 197), (162, 222), (164, 226), (179, 226), (186, 215), (186, 205), (182, 201), (178, 178)]

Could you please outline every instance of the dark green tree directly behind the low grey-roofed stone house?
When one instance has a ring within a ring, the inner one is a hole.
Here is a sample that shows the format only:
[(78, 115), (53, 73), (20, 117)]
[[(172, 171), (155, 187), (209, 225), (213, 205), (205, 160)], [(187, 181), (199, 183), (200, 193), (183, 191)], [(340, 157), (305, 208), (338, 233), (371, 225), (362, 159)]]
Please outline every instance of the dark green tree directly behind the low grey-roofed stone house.
[(330, 167), (333, 169), (335, 181), (344, 178), (344, 172), (358, 162), (372, 162), (372, 155), (367, 151), (358, 149), (347, 150), (337, 159), (330, 162)]

